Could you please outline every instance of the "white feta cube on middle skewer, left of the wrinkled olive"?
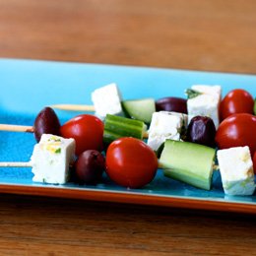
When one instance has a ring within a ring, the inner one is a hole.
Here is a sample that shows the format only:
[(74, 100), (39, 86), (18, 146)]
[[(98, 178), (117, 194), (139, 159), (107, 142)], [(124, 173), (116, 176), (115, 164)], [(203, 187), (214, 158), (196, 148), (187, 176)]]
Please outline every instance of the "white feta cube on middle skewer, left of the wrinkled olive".
[(148, 145), (157, 151), (166, 139), (180, 140), (180, 132), (187, 126), (187, 115), (177, 112), (160, 111), (152, 115)]

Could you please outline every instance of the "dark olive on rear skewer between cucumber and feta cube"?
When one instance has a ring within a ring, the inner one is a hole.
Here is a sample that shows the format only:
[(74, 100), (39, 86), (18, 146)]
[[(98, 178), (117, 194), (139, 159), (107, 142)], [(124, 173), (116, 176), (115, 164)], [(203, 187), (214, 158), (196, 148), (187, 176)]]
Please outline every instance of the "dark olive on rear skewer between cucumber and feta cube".
[(167, 96), (156, 101), (157, 111), (173, 111), (187, 114), (187, 99)]

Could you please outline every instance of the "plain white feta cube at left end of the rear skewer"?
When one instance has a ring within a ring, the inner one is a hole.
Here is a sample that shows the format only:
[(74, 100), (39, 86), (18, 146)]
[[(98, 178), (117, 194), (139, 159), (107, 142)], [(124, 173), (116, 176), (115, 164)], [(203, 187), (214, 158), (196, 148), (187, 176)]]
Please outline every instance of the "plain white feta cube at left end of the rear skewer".
[(116, 84), (98, 88), (92, 93), (96, 115), (101, 119), (106, 114), (122, 114), (121, 100), (121, 95)]

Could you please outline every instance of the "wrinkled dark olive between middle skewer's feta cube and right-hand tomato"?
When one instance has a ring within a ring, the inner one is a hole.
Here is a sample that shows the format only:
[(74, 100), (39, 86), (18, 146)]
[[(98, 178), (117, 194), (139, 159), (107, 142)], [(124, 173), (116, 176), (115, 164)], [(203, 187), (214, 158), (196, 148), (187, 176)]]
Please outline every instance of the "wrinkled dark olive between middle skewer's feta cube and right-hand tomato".
[(186, 141), (215, 148), (216, 127), (212, 118), (195, 116), (191, 119), (186, 134)]

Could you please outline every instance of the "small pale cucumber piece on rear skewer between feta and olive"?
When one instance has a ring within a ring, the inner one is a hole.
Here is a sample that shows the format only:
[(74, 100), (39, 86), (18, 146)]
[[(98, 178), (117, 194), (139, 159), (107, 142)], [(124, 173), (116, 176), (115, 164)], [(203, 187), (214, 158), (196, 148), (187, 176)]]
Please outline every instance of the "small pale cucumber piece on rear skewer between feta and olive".
[(156, 112), (156, 103), (154, 98), (142, 98), (134, 100), (123, 100), (122, 107), (126, 115), (133, 119), (150, 123), (152, 114)]

